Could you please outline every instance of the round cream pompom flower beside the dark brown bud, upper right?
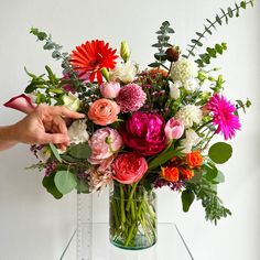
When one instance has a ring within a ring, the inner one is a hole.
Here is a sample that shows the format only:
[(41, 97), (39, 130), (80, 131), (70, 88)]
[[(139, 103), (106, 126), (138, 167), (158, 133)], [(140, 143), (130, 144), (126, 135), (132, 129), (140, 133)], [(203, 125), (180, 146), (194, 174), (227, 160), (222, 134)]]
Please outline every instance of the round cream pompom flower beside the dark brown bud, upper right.
[(171, 77), (173, 82), (182, 82), (185, 84), (189, 78), (197, 76), (197, 65), (191, 59), (181, 58), (173, 64), (171, 69)]

